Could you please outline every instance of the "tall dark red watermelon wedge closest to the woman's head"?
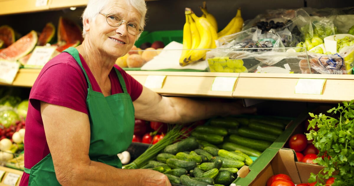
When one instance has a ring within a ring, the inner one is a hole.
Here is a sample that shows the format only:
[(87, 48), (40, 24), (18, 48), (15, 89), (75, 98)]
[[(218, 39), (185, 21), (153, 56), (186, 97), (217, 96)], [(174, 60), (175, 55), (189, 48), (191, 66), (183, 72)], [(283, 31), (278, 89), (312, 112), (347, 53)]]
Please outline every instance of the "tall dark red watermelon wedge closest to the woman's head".
[(58, 43), (76, 43), (77, 40), (82, 43), (81, 27), (70, 19), (60, 17), (58, 24)]

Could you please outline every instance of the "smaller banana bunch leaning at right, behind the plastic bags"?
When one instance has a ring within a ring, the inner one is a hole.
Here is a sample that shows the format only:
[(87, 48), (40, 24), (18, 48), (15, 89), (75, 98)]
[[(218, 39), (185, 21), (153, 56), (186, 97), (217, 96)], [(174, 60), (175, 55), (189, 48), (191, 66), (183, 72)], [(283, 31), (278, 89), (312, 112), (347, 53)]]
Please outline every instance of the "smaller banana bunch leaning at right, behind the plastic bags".
[(239, 8), (237, 10), (236, 16), (231, 19), (231, 21), (225, 26), (224, 29), (222, 29), (220, 32), (218, 32), (218, 39), (225, 36), (225, 35), (230, 35), (234, 34), (237, 32), (240, 32), (243, 27), (244, 20), (241, 17), (241, 9)]

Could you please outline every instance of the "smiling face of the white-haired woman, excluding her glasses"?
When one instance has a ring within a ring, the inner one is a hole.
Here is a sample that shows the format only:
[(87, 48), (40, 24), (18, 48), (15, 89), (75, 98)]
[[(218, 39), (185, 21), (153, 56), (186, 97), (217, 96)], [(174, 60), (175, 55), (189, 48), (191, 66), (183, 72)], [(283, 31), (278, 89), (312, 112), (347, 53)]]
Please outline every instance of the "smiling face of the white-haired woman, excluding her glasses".
[(128, 8), (124, 0), (113, 1), (113, 4), (108, 5), (101, 13), (116, 14), (124, 22), (119, 27), (112, 27), (107, 23), (104, 15), (98, 14), (95, 21), (90, 23), (87, 32), (90, 44), (109, 56), (116, 58), (124, 56), (131, 50), (136, 40), (136, 35), (128, 33), (127, 22), (140, 23), (142, 18), (140, 13), (133, 7)]

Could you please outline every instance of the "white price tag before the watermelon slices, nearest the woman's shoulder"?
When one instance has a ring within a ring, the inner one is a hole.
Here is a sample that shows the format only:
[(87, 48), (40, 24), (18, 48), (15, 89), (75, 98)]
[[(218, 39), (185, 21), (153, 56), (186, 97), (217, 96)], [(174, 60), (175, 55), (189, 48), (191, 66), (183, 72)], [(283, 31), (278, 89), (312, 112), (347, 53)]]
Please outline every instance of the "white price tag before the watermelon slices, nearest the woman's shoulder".
[(55, 46), (36, 46), (25, 68), (42, 68), (56, 53)]

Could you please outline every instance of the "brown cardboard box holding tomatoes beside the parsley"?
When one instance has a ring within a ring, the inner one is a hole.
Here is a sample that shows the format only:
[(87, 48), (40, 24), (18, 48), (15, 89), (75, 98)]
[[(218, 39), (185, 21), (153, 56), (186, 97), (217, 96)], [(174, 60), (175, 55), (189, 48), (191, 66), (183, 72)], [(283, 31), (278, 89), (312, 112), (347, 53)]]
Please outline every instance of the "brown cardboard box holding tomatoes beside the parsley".
[[(275, 149), (273, 149), (275, 151)], [(236, 182), (238, 186), (260, 186), (265, 185), (270, 176), (275, 174), (286, 174), (289, 175), (295, 184), (308, 183), (310, 173), (319, 173), (323, 168), (320, 165), (302, 163), (295, 161), (296, 155), (295, 151), (287, 148), (281, 148), (274, 156), (274, 158), (264, 166), (262, 171), (257, 174), (257, 176), (249, 183), (246, 180)], [(244, 170), (238, 174), (244, 173)], [(252, 171), (249, 172), (249, 174)], [(242, 175), (240, 175), (242, 176)], [(248, 176), (248, 175), (247, 175)], [(247, 177), (246, 176), (246, 177)]]

